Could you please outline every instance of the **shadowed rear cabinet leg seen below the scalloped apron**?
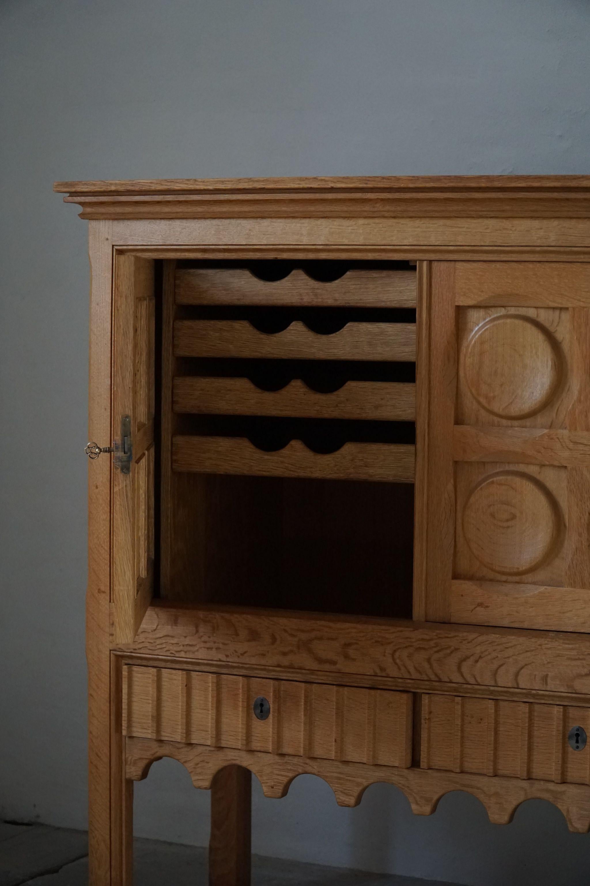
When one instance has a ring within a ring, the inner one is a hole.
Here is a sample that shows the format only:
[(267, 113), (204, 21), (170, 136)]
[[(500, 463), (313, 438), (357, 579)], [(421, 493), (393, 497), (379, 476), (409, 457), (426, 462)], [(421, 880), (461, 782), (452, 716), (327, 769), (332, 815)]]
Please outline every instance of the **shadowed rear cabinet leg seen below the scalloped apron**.
[(210, 886), (249, 886), (252, 773), (226, 766), (211, 785)]

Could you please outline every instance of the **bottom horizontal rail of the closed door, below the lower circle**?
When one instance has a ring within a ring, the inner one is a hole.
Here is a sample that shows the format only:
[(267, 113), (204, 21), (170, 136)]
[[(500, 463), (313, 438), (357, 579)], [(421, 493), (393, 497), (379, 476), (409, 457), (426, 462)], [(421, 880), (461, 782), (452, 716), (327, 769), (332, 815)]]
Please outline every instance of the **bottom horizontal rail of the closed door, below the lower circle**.
[(451, 583), (451, 620), (459, 625), (590, 633), (590, 590), (504, 581)]

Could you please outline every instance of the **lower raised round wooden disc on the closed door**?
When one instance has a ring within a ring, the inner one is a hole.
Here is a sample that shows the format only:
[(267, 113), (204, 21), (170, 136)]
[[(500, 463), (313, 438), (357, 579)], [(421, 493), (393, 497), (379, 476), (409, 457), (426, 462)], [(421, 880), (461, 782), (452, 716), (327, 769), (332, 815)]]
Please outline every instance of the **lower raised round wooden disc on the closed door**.
[(471, 554), (502, 575), (525, 575), (556, 556), (563, 518), (555, 496), (537, 478), (500, 470), (476, 486), (464, 506)]

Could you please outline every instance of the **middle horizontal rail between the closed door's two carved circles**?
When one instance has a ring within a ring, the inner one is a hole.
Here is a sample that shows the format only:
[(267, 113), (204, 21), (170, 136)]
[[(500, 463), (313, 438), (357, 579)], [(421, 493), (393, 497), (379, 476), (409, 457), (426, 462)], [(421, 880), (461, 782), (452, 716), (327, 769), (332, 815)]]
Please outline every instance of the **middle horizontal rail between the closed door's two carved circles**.
[(539, 428), (495, 428), (456, 425), (456, 462), (517, 462), (590, 466), (590, 432), (546, 431)]

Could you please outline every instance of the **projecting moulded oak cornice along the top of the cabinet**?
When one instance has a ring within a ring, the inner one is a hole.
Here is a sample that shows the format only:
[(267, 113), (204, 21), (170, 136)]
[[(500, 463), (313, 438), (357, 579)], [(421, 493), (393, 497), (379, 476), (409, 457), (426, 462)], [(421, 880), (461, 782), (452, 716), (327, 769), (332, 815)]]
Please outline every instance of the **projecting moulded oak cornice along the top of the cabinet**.
[[(369, 176), (57, 182), (82, 218), (588, 216), (587, 176)], [(179, 241), (182, 242), (182, 241)]]

